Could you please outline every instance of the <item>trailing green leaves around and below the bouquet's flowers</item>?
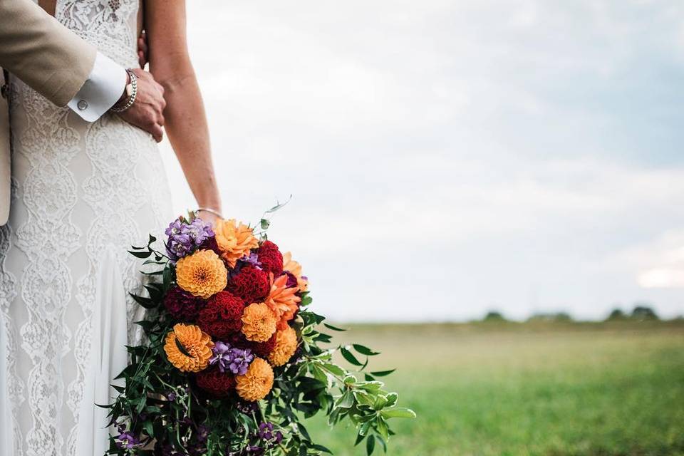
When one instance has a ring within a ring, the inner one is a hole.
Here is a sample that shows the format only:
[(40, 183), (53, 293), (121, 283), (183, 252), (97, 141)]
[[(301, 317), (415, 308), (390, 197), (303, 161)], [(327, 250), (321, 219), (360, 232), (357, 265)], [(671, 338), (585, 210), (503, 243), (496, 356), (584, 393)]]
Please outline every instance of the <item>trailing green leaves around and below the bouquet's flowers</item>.
[[(158, 271), (142, 273), (152, 279), (145, 286), (147, 296), (133, 296), (148, 310), (145, 320), (137, 322), (147, 342), (128, 347), (130, 364), (117, 377), (125, 379), (125, 388), (117, 387), (120, 395), (105, 406), (110, 409), (110, 424), (125, 427), (141, 442), (133, 449), (122, 449), (112, 438), (108, 454), (152, 456), (155, 452), (151, 447), (156, 442), (157, 447), (170, 445), (181, 455), (197, 445), (206, 447), (207, 456), (229, 452), (240, 455), (250, 445), (264, 446), (258, 437), (259, 425), (274, 423), (274, 431), (281, 432), (283, 439), (266, 445), (266, 455), (321, 455), (330, 450), (312, 440), (303, 423), (303, 418), (321, 413), (330, 425), (351, 424), (356, 429), (356, 444), (366, 440), (370, 455), (378, 446), (386, 449), (393, 434), (390, 420), (415, 418), (412, 410), (398, 407), (398, 395), (385, 390), (383, 382), (375, 378), (392, 371), (368, 372), (370, 358), (378, 352), (360, 344), (323, 348), (323, 344), (331, 342), (331, 335), (321, 332), (321, 328), (344, 330), (324, 323), (325, 317), (309, 310), (312, 300), (308, 293), (302, 295), (294, 323), (301, 337), (298, 354), (286, 366), (274, 368), (271, 393), (257, 405), (244, 403), (237, 395), (224, 400), (209, 397), (197, 388), (191, 375), (167, 361), (165, 337), (177, 321), (160, 304), (175, 276), (168, 258), (152, 247), (155, 241), (150, 236), (147, 246), (130, 251), (145, 259), (145, 264), (162, 266)], [(333, 359), (336, 353), (341, 353), (353, 368), (337, 363)]]

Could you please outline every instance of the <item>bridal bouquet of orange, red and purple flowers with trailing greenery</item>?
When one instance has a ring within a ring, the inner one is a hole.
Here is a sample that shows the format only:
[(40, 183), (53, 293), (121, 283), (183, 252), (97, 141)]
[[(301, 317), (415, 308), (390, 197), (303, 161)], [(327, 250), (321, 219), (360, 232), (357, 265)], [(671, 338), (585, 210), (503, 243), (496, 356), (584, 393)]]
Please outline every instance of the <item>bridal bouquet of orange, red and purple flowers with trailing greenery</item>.
[[(270, 209), (274, 212), (280, 205)], [(368, 372), (366, 346), (331, 342), (344, 331), (311, 311), (309, 282), (291, 254), (234, 220), (207, 224), (190, 212), (166, 229), (165, 248), (150, 235), (130, 251), (156, 268), (137, 324), (145, 342), (128, 347), (130, 364), (114, 386), (109, 455), (305, 456), (330, 453), (302, 420), (324, 413), (330, 425), (356, 427), (386, 451), (390, 418), (413, 418), (397, 394)], [(165, 250), (165, 252), (160, 252)], [(333, 355), (356, 373), (336, 363)]]

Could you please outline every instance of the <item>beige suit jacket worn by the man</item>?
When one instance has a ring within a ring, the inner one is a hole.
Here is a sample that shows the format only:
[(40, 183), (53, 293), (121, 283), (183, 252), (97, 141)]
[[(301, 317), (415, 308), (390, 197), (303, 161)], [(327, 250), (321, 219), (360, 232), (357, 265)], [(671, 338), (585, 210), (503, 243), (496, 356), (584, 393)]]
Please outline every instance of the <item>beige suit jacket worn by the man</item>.
[[(32, 0), (0, 0), (0, 67), (65, 106), (95, 64), (97, 50)], [(0, 85), (3, 83), (0, 77)], [(0, 225), (9, 217), (9, 116), (0, 101)]]

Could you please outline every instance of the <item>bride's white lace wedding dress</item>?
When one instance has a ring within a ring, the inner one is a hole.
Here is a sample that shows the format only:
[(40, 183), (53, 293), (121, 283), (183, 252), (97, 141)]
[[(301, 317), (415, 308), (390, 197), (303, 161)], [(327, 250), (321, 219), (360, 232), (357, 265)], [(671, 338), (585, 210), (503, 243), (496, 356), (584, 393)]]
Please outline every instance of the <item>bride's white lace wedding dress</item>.
[[(58, 0), (56, 18), (138, 66), (138, 0)], [(115, 115), (88, 124), (14, 79), (9, 223), (0, 229), (0, 456), (98, 456), (109, 384), (139, 341), (139, 263), (170, 221), (157, 145)], [(138, 315), (136, 315), (138, 314)]]

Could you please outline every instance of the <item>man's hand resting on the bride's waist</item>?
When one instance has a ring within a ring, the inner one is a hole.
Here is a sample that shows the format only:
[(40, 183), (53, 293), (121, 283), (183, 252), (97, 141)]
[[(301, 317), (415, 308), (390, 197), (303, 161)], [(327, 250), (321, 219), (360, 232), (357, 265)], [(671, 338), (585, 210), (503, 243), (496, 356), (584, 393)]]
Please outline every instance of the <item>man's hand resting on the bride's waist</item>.
[[(164, 88), (147, 71), (140, 68), (133, 68), (131, 71), (138, 77), (138, 94), (133, 106), (117, 114), (131, 125), (150, 133), (157, 142), (160, 142), (164, 136)], [(122, 99), (125, 98), (125, 94), (122, 95)]]

